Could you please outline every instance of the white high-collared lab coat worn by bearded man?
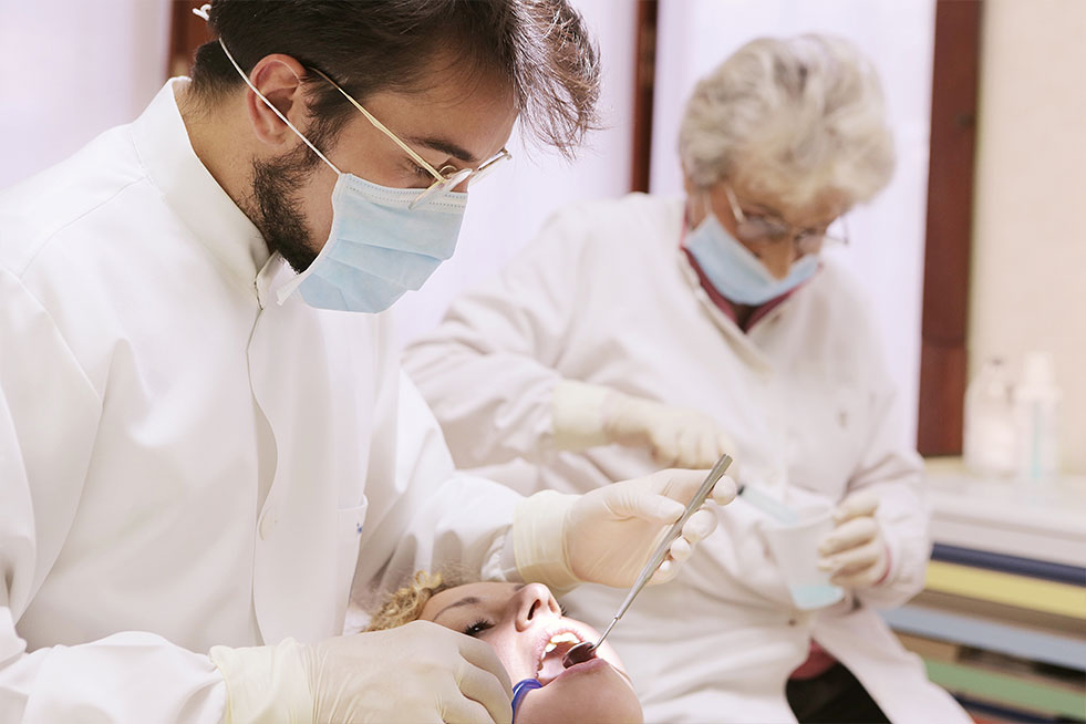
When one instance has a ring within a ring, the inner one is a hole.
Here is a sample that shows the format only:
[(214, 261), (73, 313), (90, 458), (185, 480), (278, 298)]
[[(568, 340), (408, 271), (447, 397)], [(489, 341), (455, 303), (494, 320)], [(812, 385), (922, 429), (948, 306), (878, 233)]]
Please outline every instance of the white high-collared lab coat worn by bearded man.
[(386, 316), (275, 301), (183, 82), (0, 194), (2, 722), (218, 722), (211, 645), (337, 635), (435, 546), (490, 575), (519, 499), (438, 487)]

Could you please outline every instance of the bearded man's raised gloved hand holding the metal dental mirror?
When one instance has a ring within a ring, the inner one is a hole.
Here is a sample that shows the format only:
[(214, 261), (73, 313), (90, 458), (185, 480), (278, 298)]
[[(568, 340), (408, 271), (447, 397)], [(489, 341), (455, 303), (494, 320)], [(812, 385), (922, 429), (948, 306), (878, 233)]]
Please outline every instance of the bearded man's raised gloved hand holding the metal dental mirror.
[[(682, 517), (709, 470), (660, 470), (585, 495), (544, 490), (517, 506), (513, 536), (517, 569), (526, 581), (569, 590), (581, 582), (632, 586), (666, 529)], [(717, 482), (711, 499), (726, 505), (735, 483)], [(650, 580), (679, 573), (694, 546), (716, 528), (716, 514), (702, 508), (683, 526)]]

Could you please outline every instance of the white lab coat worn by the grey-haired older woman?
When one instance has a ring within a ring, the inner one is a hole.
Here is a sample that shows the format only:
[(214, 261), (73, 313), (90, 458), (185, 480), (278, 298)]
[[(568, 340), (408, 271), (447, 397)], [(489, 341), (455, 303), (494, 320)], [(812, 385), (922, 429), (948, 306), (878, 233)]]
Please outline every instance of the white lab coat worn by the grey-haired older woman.
[[(721, 510), (718, 530), (675, 581), (641, 593), (610, 641), (648, 722), (795, 721), (785, 682), (809, 637), (893, 721), (969, 721), (872, 610), (920, 590), (929, 541), (919, 458), (902, 444), (861, 297), (827, 261), (744, 334), (680, 251), (682, 209), (634, 194), (558, 214), (408, 348), (405, 366), (454, 459), (492, 466), (492, 477), (524, 493), (583, 492), (652, 472), (643, 451), (555, 449), (551, 395), (570, 379), (712, 415), (736, 442), (741, 477), (786, 500), (873, 490), (892, 561), (882, 585), (820, 613), (795, 610), (759, 532), (763, 516), (741, 499)], [(623, 596), (582, 586), (565, 602), (600, 625)]]

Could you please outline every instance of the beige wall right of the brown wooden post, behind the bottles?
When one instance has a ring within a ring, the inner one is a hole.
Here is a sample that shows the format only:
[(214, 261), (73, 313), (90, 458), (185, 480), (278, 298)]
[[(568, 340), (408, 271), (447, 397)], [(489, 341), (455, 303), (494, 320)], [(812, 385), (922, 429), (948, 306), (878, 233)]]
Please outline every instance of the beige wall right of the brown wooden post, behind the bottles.
[(1086, 2), (987, 0), (970, 366), (1055, 359), (1065, 472), (1086, 473)]

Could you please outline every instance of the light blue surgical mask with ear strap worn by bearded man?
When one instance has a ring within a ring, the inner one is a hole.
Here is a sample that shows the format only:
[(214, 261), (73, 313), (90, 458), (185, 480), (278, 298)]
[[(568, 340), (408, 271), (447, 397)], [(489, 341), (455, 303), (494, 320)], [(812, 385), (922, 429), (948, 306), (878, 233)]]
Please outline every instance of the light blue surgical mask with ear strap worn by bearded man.
[(279, 303), (298, 290), (318, 309), (381, 312), (408, 289), (422, 287), (453, 256), (467, 194), (439, 189), (424, 206), (412, 208), (422, 189), (390, 188), (342, 173), (256, 89), (221, 40), (219, 44), (252, 92), (338, 176), (328, 240), (308, 269), (277, 290)]

